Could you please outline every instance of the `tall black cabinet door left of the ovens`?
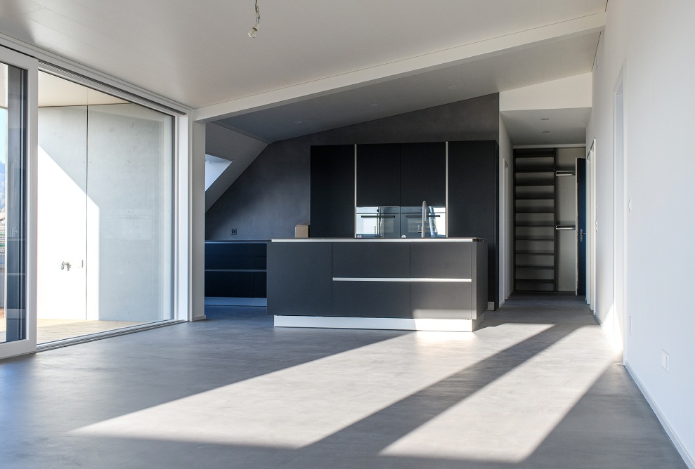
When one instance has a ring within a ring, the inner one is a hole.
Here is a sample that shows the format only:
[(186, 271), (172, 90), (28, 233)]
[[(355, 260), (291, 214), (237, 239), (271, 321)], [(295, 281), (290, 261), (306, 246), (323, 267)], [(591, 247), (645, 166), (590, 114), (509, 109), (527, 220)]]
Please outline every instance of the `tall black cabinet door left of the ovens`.
[(311, 147), (311, 237), (355, 236), (355, 145)]

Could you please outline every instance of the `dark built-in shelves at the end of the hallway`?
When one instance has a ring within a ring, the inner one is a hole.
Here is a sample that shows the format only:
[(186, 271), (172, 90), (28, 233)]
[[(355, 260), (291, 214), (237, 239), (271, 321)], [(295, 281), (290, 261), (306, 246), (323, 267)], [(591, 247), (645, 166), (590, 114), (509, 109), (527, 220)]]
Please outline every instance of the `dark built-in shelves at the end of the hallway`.
[(555, 291), (556, 152), (514, 150), (514, 291)]

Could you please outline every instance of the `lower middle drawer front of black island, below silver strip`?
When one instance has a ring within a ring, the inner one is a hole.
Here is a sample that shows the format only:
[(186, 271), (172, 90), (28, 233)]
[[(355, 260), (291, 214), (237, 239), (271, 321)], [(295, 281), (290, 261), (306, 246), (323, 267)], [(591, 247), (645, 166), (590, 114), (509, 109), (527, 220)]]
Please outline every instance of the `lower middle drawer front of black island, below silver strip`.
[(333, 316), (410, 317), (408, 282), (333, 282)]

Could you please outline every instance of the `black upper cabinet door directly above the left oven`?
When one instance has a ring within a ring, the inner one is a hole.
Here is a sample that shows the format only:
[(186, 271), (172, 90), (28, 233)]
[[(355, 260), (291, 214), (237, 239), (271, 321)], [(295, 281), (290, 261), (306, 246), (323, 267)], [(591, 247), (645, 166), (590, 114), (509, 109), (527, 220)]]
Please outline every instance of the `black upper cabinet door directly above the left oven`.
[(357, 206), (400, 205), (401, 145), (357, 145)]

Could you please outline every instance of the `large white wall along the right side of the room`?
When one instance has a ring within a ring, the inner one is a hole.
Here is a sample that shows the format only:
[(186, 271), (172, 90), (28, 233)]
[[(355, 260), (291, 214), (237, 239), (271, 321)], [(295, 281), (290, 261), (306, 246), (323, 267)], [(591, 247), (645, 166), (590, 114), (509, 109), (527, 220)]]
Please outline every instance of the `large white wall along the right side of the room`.
[[(613, 298), (613, 98), (624, 68), (626, 213), (624, 359), (681, 454), (695, 467), (695, 34), (691, 0), (611, 0), (594, 70), (587, 144), (597, 141), (597, 317)], [(618, 194), (621, 197), (621, 194)], [(615, 238), (614, 238), (615, 237)], [(618, 318), (622, 319), (622, 318)], [(669, 371), (661, 367), (670, 354)]]

